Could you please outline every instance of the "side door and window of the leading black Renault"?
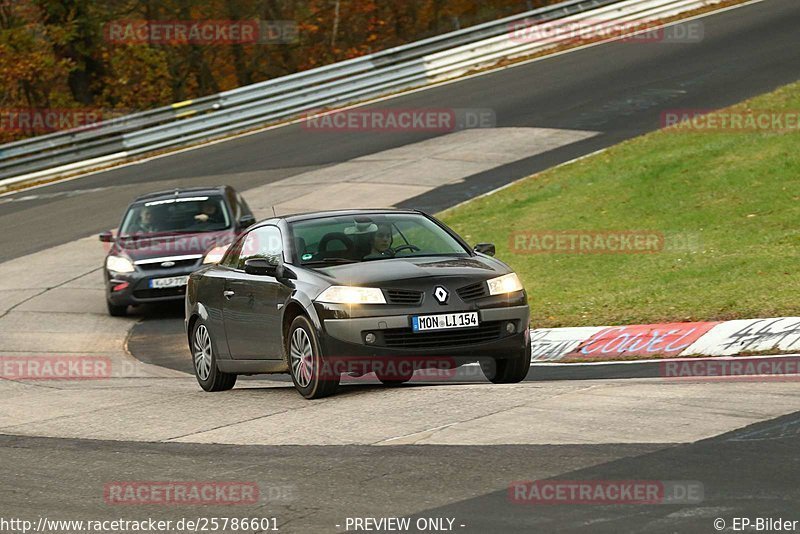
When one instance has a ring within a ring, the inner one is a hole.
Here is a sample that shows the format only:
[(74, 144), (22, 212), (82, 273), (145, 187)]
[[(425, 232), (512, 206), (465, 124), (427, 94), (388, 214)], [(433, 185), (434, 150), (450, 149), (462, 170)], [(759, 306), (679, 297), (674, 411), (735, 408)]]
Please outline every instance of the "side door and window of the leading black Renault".
[(276, 226), (261, 226), (244, 236), (237, 265), (228, 273), (223, 301), (225, 335), (235, 360), (281, 359), (281, 284), (273, 276), (246, 273), (244, 263), (265, 258), (277, 265), (282, 256)]

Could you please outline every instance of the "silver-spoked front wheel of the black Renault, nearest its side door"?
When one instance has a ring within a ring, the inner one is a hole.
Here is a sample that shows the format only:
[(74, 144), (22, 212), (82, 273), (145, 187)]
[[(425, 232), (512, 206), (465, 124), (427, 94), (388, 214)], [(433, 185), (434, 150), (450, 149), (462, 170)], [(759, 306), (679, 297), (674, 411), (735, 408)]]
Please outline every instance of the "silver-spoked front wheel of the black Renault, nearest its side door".
[(296, 317), (289, 326), (284, 350), (294, 387), (303, 397), (321, 399), (336, 393), (341, 374), (326, 362), (317, 331), (304, 315)]

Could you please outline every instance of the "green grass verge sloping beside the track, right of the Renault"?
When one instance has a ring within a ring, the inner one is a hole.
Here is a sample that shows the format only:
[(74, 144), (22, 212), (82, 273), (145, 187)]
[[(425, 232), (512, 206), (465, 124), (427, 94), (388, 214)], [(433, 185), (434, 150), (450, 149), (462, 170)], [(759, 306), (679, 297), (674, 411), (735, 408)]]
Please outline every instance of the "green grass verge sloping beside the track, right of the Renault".
[[(800, 83), (726, 111), (759, 110), (797, 114)], [(496, 243), (528, 290), (534, 327), (792, 316), (799, 147), (797, 129), (661, 130), (439, 216), (470, 242)], [(663, 247), (531, 253), (535, 243), (515, 241), (559, 232), (642, 232)]]

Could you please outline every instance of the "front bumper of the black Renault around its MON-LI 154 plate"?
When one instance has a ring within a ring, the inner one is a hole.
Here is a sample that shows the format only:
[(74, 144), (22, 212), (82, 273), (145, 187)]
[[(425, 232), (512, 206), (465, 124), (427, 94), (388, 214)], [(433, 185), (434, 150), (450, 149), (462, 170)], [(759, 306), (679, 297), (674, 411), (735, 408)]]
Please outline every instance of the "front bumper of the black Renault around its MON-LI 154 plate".
[[(411, 329), (411, 317), (419, 313), (325, 319), (321, 342), (326, 356), (344, 358), (435, 356), (452, 358), (460, 364), (519, 357), (525, 353), (530, 343), (527, 305), (477, 311), (480, 321), (477, 328), (420, 333)], [(513, 325), (512, 332), (508, 325)], [(374, 337), (372, 343), (367, 342), (368, 334)]]

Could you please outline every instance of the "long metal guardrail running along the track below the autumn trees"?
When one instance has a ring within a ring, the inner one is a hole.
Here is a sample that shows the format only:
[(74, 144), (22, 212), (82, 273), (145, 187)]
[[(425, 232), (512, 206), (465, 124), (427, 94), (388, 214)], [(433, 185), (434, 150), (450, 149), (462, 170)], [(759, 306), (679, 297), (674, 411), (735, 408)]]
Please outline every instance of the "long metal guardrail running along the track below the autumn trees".
[(559, 45), (511, 38), (518, 24), (658, 18), (720, 0), (567, 0), (288, 76), (0, 145), (0, 185), (57, 176), (193, 144), (326, 108), (453, 78), (504, 58)]

